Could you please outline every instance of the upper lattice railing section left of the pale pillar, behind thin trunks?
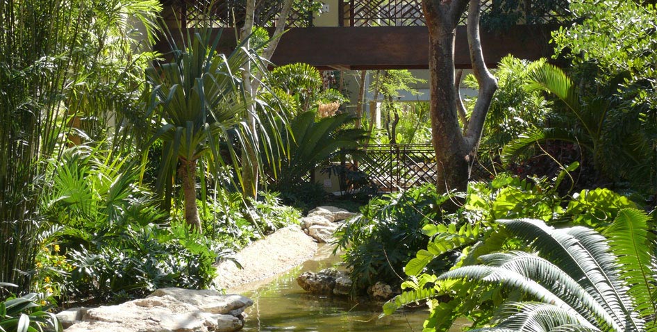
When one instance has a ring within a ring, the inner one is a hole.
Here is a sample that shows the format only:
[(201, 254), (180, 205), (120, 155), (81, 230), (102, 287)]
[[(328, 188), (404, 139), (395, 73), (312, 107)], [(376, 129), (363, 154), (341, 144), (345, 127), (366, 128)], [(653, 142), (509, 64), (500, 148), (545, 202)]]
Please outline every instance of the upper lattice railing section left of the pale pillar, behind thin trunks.
[[(246, 13), (245, 0), (168, 0), (165, 6), (170, 6), (170, 15), (176, 15), (183, 26), (193, 28), (205, 24), (215, 28), (242, 26)], [(256, 26), (274, 27), (279, 13), (283, 8), (282, 0), (258, 1), (254, 21)], [(165, 17), (172, 20), (174, 17)], [(312, 15), (302, 10), (292, 8), (286, 26), (312, 26)]]

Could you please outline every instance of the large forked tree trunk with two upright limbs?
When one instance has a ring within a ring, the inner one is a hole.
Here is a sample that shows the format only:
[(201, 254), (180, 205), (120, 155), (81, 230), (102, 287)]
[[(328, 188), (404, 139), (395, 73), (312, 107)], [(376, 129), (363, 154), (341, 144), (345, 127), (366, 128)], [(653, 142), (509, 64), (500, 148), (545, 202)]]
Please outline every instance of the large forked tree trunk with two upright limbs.
[(468, 7), (467, 0), (422, 0), (429, 28), (429, 69), (431, 71), (431, 136), (436, 153), (438, 192), (467, 190), (470, 170), (479, 147), (492, 94), (497, 82), (483, 62), (479, 38), (481, 0), (469, 1), (467, 35), (474, 75), (479, 81), (479, 99), (465, 134), (458, 123), (458, 88), (454, 73), (456, 25)]

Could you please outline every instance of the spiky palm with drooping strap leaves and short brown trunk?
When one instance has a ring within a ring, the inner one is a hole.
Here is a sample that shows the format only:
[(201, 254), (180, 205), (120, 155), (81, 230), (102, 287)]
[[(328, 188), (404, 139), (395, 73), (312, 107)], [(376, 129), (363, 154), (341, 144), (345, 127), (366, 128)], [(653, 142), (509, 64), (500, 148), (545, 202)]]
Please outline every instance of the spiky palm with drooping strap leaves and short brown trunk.
[[(232, 143), (234, 139), (241, 147), (255, 145), (256, 133), (242, 123), (242, 115), (248, 111), (249, 104), (256, 101), (244, 93), (240, 67), (252, 61), (257, 70), (262, 64), (255, 53), (241, 47), (228, 56), (217, 53), (219, 38), (220, 33), (213, 37), (210, 28), (203, 28), (184, 38), (185, 49), (178, 49), (170, 38), (173, 61), (147, 71), (153, 87), (147, 114), (156, 115), (158, 125), (151, 142), (163, 141), (156, 189), (165, 194), (165, 204), (168, 204), (174, 176), (178, 176), (183, 188), (185, 220), (199, 231), (201, 222), (196, 202), (199, 160), (206, 158), (216, 173), (227, 165), (219, 155), (220, 140)], [(276, 113), (263, 114), (274, 116)], [(258, 115), (254, 117), (260, 124)], [(271, 146), (269, 140), (266, 143), (267, 147)], [(226, 144), (226, 147), (231, 152), (233, 166), (238, 167), (233, 145)], [(260, 163), (260, 160), (247, 158), (242, 163)], [(239, 177), (240, 173), (236, 174)]]

